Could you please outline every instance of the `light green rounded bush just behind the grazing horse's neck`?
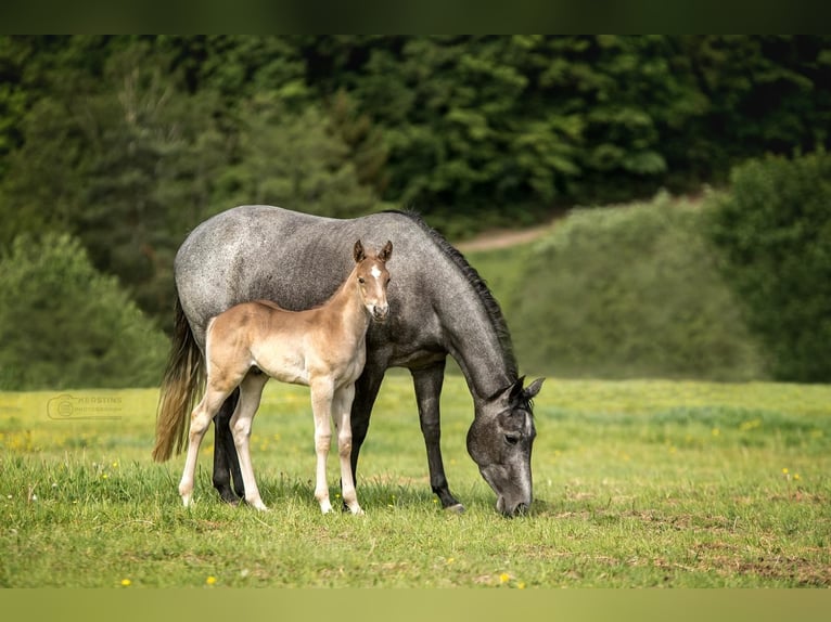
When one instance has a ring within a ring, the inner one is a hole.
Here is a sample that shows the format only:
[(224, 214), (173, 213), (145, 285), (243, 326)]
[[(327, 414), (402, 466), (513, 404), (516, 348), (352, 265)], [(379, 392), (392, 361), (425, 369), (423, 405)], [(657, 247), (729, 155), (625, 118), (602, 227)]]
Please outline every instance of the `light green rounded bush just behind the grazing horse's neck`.
[(561, 376), (764, 375), (703, 233), (672, 202), (577, 210), (534, 245), (506, 300), (524, 367)]

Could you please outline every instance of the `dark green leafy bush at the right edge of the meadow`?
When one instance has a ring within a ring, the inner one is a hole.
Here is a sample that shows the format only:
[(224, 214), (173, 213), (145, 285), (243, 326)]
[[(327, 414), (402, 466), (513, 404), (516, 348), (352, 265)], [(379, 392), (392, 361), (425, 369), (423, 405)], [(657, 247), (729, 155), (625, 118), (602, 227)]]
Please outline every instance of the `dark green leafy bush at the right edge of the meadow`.
[(831, 380), (831, 155), (739, 167), (712, 235), (775, 377)]

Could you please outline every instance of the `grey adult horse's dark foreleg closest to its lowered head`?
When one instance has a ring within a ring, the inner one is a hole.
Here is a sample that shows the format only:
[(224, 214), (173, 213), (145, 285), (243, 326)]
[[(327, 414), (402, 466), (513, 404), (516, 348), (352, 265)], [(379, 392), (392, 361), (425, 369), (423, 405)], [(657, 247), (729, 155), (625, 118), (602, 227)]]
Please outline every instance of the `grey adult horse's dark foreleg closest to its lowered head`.
[(438, 495), (442, 507), (453, 511), (464, 511), (464, 506), (450, 493), (445, 476), (445, 464), (442, 459), (442, 418), (438, 403), (445, 381), (445, 361), (442, 360), (430, 367), (412, 370), (411, 373), (419, 406), (421, 433), (424, 435), (424, 444), (427, 448), (430, 485)]

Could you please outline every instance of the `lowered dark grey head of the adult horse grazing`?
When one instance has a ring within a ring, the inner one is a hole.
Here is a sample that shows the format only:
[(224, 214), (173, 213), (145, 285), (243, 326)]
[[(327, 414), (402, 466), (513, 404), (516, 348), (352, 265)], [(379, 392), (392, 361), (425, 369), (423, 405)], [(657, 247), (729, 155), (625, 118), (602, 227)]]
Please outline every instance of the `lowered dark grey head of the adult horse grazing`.
[(530, 450), (537, 431), (530, 400), (542, 378), (526, 388), (523, 380), (488, 400), (468, 431), (468, 453), (496, 492), (497, 509), (506, 516), (525, 513), (533, 497)]

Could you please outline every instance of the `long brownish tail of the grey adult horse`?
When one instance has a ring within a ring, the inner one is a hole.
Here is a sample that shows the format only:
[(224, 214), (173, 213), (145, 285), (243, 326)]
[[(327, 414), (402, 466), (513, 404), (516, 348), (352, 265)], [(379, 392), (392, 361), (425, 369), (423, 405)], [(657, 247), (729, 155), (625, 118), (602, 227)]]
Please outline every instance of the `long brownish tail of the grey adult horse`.
[(165, 462), (174, 452), (184, 446), (188, 415), (196, 402), (196, 391), (205, 381), (205, 364), (202, 351), (193, 338), (193, 332), (182, 311), (179, 296), (176, 297), (176, 325), (162, 380), (162, 394), (156, 415), (156, 446), (153, 459)]

